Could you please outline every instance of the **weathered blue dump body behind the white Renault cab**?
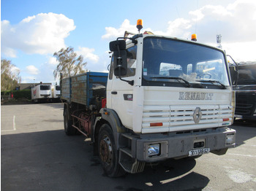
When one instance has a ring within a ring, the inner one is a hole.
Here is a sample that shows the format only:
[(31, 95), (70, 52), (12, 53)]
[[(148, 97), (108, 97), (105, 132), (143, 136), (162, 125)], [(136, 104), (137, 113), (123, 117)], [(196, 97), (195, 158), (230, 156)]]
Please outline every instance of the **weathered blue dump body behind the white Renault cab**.
[(61, 99), (84, 106), (94, 105), (97, 97), (105, 97), (108, 74), (87, 72), (61, 80)]

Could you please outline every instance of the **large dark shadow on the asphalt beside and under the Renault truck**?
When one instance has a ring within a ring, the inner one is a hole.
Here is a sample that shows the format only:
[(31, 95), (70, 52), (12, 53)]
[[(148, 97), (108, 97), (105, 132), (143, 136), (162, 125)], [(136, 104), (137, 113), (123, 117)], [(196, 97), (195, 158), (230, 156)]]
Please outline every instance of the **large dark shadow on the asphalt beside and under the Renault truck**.
[(83, 136), (64, 130), (1, 136), (1, 190), (202, 190), (209, 179), (193, 172), (195, 165), (168, 160), (111, 179)]

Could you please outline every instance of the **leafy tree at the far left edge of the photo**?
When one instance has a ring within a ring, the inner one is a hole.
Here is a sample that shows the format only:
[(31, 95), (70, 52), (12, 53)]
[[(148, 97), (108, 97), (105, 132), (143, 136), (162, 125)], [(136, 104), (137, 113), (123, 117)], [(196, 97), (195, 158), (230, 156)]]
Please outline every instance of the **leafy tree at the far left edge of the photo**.
[(20, 70), (11, 61), (1, 59), (1, 91), (14, 90), (20, 81)]

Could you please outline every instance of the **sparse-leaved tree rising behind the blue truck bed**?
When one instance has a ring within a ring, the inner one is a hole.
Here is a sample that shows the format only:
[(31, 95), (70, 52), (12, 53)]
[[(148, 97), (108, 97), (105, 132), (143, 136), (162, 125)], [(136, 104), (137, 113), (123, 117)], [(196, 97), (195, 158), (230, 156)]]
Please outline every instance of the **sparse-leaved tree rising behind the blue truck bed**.
[(86, 62), (83, 63), (83, 56), (78, 56), (74, 52), (74, 48), (62, 48), (59, 52), (55, 52), (53, 56), (59, 61), (58, 66), (53, 71), (55, 79), (60, 73), (62, 74), (62, 78), (64, 78), (85, 72), (84, 67), (86, 66)]

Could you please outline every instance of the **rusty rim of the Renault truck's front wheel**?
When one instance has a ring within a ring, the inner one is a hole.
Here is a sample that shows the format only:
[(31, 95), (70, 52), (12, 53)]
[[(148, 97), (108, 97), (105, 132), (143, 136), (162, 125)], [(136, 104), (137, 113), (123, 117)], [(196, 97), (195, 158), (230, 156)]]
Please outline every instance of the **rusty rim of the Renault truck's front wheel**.
[(108, 136), (104, 136), (99, 143), (99, 157), (102, 162), (110, 165), (113, 160), (112, 144)]

